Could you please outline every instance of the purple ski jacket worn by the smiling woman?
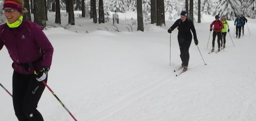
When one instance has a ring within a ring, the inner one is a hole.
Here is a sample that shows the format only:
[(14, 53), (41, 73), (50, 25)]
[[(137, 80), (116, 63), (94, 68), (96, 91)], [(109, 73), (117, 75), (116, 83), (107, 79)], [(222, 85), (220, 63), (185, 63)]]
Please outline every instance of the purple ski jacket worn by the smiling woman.
[(51, 67), (53, 46), (36, 23), (23, 19), (17, 28), (9, 28), (6, 23), (0, 25), (0, 50), (3, 46), (13, 60), (13, 69), (21, 74)]

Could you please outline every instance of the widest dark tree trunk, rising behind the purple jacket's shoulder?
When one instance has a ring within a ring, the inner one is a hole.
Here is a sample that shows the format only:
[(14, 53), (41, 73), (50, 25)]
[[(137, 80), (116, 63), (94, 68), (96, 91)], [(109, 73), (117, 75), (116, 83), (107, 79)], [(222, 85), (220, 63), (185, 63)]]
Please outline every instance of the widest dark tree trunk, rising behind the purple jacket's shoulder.
[(35, 0), (34, 2), (34, 23), (37, 23), (41, 27), (45, 27), (45, 0)]

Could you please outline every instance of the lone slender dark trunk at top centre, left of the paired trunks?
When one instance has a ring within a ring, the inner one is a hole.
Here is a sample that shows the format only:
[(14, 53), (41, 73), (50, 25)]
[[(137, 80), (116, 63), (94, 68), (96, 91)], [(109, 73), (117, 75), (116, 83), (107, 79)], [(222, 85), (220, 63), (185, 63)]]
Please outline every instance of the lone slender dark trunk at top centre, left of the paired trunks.
[(142, 0), (137, 0), (137, 21), (138, 21), (138, 29), (137, 31), (144, 32), (143, 26), (143, 14), (142, 14)]

